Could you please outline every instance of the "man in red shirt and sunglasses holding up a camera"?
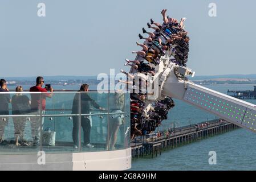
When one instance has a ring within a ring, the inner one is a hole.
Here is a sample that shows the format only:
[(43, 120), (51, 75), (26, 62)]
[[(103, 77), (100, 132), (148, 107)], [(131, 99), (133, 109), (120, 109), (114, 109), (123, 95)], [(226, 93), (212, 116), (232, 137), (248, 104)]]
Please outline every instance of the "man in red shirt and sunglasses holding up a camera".
[[(43, 115), (46, 109), (46, 97), (52, 97), (52, 93), (54, 89), (48, 88), (51, 93), (43, 93), (47, 92), (45, 88), (42, 88), (44, 84), (43, 77), (36, 78), (36, 85), (30, 88), (30, 92), (41, 92), (39, 93), (31, 93), (31, 112), (36, 115)], [(42, 123), (41, 123), (42, 119)], [(31, 134), (34, 140), (34, 146), (39, 145), (40, 133), (43, 130), (43, 122), (44, 117), (32, 117), (31, 118)]]

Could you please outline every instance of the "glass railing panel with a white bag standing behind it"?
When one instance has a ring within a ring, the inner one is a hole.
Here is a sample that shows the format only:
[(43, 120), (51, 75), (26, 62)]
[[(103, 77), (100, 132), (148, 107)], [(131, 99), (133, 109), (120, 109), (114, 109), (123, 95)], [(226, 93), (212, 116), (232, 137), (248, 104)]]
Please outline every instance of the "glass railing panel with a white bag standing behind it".
[(75, 117), (78, 117), (72, 115), (74, 114), (72, 109), (76, 93), (78, 92), (54, 92), (51, 97), (46, 98), (42, 131), (45, 152), (77, 152), (72, 137), (74, 120)]

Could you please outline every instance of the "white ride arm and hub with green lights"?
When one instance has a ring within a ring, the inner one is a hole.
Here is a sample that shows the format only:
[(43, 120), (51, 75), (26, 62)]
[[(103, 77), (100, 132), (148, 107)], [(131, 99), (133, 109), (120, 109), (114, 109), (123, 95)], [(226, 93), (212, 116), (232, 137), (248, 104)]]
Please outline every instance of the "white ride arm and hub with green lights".
[[(172, 63), (169, 61), (171, 56), (172, 49), (161, 57), (160, 64), (156, 66), (156, 75), (151, 77), (152, 82), (155, 83), (153, 85), (155, 92), (146, 101), (145, 115), (152, 109), (153, 102), (168, 96), (197, 106), (235, 125), (256, 132), (256, 105), (194, 84), (185, 76), (193, 77), (195, 72)], [(140, 59), (140, 56), (137, 56), (136, 59)], [(135, 72), (135, 69), (130, 71), (130, 73)]]

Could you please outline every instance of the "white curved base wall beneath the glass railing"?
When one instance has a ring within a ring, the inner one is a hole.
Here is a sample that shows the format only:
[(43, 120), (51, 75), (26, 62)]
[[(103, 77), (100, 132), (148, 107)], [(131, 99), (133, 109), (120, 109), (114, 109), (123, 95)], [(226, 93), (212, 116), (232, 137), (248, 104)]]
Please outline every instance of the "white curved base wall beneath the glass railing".
[(79, 152), (70, 154), (46, 154), (45, 164), (38, 164), (42, 156), (0, 155), (0, 171), (112, 171), (131, 168), (131, 148), (103, 152)]

